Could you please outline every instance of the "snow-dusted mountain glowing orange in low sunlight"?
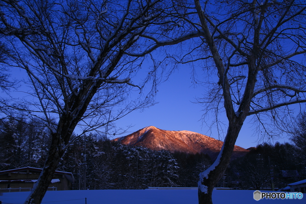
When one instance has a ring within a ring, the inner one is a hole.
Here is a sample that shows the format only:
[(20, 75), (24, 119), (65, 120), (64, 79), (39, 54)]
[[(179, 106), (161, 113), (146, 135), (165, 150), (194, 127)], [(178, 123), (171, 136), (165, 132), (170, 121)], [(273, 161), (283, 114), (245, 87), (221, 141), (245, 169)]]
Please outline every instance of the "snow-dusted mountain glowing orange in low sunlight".
[[(189, 154), (219, 152), (223, 142), (191, 131), (161, 130), (154, 126), (145, 127), (132, 134), (114, 139), (129, 146), (142, 146), (151, 150), (168, 150)], [(236, 146), (234, 152), (248, 152)]]

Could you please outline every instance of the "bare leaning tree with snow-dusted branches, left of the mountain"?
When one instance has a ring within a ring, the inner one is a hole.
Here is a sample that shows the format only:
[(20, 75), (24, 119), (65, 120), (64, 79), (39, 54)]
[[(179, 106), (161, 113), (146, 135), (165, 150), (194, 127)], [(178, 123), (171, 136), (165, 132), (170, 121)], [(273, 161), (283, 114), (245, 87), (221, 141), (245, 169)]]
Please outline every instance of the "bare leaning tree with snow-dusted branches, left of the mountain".
[[(0, 34), (16, 53), (9, 55), (6, 66), (25, 70), (25, 83), (32, 88), (30, 98), (2, 98), (1, 111), (38, 117), (52, 132), (43, 171), (25, 203), (42, 201), (76, 126), (83, 133), (98, 131), (132, 110), (152, 105), (157, 82), (147, 95), (139, 90), (143, 83), (132, 84), (144, 57), (126, 52), (137, 51), (151, 41), (142, 36), (163, 38), (168, 29), (164, 19), (170, 13), (166, 3), (1, 1)], [(144, 83), (156, 79), (155, 71), (149, 72)], [(140, 96), (129, 95), (134, 91), (140, 91)]]

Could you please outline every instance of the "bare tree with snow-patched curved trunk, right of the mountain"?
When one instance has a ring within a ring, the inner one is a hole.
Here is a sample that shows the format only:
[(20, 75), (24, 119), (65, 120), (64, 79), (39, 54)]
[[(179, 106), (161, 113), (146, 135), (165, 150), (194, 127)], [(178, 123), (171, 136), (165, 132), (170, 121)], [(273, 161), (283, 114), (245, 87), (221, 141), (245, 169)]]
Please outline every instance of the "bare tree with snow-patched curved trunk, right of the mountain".
[[(282, 128), (282, 122), (290, 119), (288, 106), (306, 102), (306, 4), (194, 0), (178, 1), (174, 8), (172, 14), (181, 17), (185, 35), (155, 40), (148, 50), (189, 40), (188, 47), (180, 50), (187, 52), (168, 57), (193, 67), (205, 60), (200, 65), (207, 73), (209, 89), (199, 99), (205, 105), (204, 117), (213, 113), (218, 121), (225, 112), (228, 119), (218, 158), (199, 175), (199, 203), (207, 204), (212, 203), (212, 190), (226, 171), (246, 117), (253, 115), (263, 134), (274, 137), (271, 127)], [(267, 120), (272, 121), (270, 127)]]

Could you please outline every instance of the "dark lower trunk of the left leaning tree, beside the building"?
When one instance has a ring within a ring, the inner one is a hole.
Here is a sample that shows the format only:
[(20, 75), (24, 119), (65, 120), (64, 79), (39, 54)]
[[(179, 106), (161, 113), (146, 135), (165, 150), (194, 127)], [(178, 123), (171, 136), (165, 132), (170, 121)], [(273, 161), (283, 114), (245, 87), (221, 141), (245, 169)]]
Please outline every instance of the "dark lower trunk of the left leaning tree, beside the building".
[(24, 204), (40, 204), (43, 200), (43, 197), (50, 185), (50, 181), (52, 180), (53, 174), (58, 166), (58, 162), (64, 152), (58, 149), (59, 137), (60, 136), (58, 133), (54, 133), (52, 135), (52, 142), (44, 168)]

